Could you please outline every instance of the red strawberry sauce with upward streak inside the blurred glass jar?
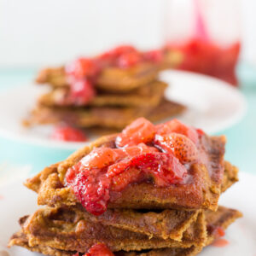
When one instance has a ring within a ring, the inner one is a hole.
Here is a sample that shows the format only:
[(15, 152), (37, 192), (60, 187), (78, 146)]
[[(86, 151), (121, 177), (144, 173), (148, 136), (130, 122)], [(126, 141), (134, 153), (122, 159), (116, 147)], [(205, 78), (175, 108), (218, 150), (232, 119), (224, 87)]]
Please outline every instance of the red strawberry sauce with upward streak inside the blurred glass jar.
[(198, 0), (194, 3), (196, 19), (194, 37), (182, 44), (167, 44), (166, 49), (183, 55), (183, 61), (178, 69), (204, 73), (237, 85), (236, 63), (241, 49), (240, 42), (226, 47), (213, 43), (208, 35)]

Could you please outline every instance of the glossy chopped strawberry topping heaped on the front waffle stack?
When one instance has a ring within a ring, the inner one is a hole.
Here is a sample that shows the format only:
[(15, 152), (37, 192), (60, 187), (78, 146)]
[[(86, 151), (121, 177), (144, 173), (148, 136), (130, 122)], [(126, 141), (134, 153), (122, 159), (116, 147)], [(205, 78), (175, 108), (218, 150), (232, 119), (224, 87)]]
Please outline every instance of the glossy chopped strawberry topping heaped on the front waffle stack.
[(183, 184), (189, 167), (199, 161), (201, 136), (177, 119), (156, 126), (137, 119), (116, 137), (115, 147), (94, 148), (70, 167), (66, 186), (88, 212), (100, 215), (107, 210), (111, 192), (119, 193), (131, 183)]

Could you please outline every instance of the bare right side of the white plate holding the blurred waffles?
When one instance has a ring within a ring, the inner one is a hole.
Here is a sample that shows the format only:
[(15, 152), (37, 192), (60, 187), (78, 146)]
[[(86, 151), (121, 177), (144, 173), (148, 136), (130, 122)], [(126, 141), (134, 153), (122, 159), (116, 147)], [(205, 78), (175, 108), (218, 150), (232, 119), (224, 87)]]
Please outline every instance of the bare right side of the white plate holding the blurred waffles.
[(245, 97), (222, 80), (183, 71), (165, 71), (160, 79), (169, 84), (166, 97), (188, 108), (178, 119), (207, 133), (230, 128), (246, 113)]

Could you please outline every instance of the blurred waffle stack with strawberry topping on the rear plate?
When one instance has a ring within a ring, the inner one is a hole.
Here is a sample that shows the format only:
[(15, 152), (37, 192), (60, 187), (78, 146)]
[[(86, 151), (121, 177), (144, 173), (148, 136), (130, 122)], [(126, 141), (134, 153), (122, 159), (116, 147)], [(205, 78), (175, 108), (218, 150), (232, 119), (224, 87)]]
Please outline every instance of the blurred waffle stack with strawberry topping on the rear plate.
[(182, 105), (164, 97), (167, 84), (158, 78), (163, 58), (161, 50), (120, 46), (66, 67), (44, 69), (37, 82), (50, 90), (39, 97), (28, 124), (120, 131), (141, 116), (157, 121), (181, 113)]

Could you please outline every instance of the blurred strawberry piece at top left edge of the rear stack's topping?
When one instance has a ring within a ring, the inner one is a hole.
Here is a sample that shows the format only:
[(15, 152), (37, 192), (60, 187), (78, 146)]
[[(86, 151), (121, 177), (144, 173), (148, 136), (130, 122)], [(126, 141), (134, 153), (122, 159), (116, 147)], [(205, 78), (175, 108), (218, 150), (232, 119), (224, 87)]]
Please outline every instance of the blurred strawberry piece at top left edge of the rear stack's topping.
[(79, 58), (66, 66), (66, 73), (75, 79), (93, 78), (100, 72), (95, 60)]

